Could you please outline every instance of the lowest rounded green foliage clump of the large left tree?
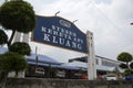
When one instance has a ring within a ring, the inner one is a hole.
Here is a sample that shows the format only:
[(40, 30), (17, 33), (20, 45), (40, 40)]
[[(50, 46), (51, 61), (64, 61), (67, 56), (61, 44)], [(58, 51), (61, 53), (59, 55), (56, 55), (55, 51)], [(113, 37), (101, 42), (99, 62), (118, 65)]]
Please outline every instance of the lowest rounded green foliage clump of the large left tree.
[(27, 61), (23, 55), (12, 52), (0, 55), (0, 70), (18, 73), (25, 68)]

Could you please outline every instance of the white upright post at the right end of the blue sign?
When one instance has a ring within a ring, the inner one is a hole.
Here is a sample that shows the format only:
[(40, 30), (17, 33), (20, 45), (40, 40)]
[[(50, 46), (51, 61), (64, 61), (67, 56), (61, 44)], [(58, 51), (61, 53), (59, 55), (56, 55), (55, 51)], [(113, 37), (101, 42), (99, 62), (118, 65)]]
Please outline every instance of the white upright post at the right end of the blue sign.
[(93, 33), (90, 31), (86, 32), (86, 43), (88, 43), (88, 79), (92, 80), (96, 78), (96, 67)]

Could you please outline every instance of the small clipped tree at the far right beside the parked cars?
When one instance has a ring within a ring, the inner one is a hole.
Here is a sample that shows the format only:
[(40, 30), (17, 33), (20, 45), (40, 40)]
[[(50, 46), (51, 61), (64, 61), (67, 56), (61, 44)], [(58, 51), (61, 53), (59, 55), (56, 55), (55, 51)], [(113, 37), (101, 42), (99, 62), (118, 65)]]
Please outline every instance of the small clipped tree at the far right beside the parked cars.
[(130, 53), (123, 52), (116, 57), (116, 59), (122, 62), (120, 67), (124, 69), (124, 76), (133, 75), (133, 57)]

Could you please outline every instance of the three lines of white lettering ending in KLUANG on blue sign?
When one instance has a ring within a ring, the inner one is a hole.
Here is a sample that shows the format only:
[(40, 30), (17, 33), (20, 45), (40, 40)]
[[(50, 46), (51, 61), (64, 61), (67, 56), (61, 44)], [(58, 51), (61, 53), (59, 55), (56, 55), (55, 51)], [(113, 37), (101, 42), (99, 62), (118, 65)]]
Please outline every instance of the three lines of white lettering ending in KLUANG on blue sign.
[(59, 46), (65, 46), (74, 50), (82, 50), (83, 40), (79, 38), (76, 33), (55, 25), (50, 28), (41, 26), (43, 41)]

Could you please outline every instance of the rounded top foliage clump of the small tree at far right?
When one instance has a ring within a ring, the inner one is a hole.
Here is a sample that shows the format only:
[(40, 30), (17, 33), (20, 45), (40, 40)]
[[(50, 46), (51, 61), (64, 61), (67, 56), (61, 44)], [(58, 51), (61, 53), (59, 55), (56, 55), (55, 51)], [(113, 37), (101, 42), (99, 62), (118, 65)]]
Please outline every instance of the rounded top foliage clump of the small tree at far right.
[(129, 54), (129, 53), (121, 53), (121, 54), (117, 56), (116, 59), (117, 59), (117, 61), (121, 61), (121, 62), (126, 62), (126, 63), (129, 63), (129, 62), (131, 62), (131, 61), (133, 59), (133, 57), (132, 57), (132, 55)]

